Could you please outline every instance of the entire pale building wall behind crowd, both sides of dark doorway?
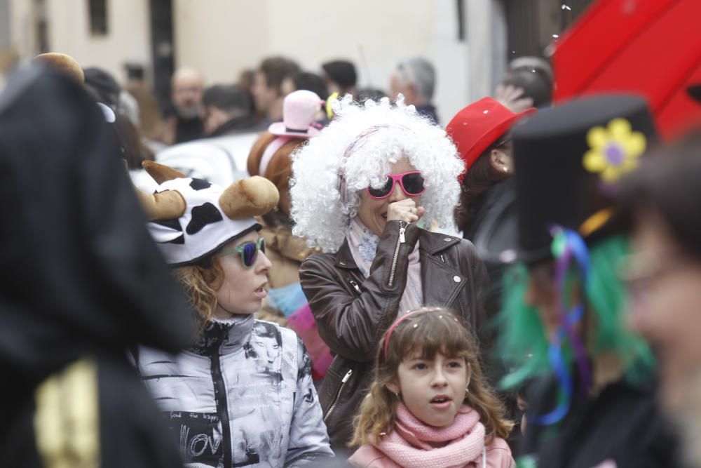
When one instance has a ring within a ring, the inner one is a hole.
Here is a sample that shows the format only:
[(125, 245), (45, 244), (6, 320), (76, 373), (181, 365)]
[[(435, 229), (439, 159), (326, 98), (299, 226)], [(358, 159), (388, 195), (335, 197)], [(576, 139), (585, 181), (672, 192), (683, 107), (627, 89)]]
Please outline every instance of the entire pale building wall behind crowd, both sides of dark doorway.
[[(12, 38), (36, 53), (33, 0), (9, 0)], [(108, 0), (108, 30), (92, 36), (87, 0), (45, 0), (52, 51), (123, 81), (126, 61), (151, 63), (149, 0)], [(208, 84), (231, 82), (267, 55), (284, 54), (309, 71), (347, 58), (360, 86), (387, 89), (397, 62), (422, 55), (437, 69), (435, 105), (443, 124), (494, 81), (494, 0), (465, 0), (466, 41), (458, 41), (454, 0), (173, 0), (176, 67), (200, 69)]]

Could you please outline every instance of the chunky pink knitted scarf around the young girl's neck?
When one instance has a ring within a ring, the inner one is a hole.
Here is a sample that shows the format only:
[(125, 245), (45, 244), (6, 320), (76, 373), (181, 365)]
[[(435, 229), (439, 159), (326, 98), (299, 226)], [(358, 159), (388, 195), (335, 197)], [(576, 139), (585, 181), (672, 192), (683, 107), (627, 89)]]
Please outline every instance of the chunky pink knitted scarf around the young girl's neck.
[[(449, 443), (433, 448), (428, 442)], [(479, 466), (484, 448), (484, 425), (479, 422), (477, 411), (463, 405), (453, 424), (431, 427), (399, 403), (395, 427), (377, 448), (406, 468), (466, 467), (470, 462), (477, 462)]]

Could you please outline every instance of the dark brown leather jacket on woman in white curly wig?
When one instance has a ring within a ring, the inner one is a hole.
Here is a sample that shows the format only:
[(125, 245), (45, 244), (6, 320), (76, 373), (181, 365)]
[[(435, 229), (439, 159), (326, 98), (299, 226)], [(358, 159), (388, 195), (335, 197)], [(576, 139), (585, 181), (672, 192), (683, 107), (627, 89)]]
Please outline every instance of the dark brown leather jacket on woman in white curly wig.
[[(482, 335), (489, 277), (470, 241), (388, 221), (367, 279), (348, 243), (312, 255), (299, 270), (319, 335), (335, 354), (319, 391), (334, 452), (348, 450), (353, 416), (367, 394), (379, 341), (397, 317), (407, 283), (408, 256), (419, 243), (423, 302), (452, 310)], [(486, 343), (482, 342), (482, 347)]]

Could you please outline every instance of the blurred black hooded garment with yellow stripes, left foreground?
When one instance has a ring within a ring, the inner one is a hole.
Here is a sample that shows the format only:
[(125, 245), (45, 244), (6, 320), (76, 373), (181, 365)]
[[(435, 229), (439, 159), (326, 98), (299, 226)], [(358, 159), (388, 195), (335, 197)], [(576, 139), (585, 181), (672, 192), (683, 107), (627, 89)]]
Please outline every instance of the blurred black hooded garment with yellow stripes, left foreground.
[(179, 464), (126, 356), (139, 343), (188, 345), (190, 311), (113, 136), (64, 74), (17, 72), (0, 95), (2, 467), (45, 466), (42, 455), (68, 456), (65, 466)]

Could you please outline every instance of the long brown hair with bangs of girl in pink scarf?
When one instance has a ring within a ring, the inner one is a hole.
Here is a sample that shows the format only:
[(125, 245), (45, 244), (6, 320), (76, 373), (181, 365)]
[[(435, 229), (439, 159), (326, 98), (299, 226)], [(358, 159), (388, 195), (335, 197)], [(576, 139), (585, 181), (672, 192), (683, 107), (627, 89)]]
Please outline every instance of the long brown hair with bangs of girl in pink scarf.
[(454, 314), (437, 307), (419, 309), (390, 330), (387, 356), (384, 345), (388, 332), (377, 350), (374, 379), (367, 398), (360, 405), (360, 413), (353, 421), (355, 432), (350, 446), (379, 443), (381, 434), (392, 431), (398, 401), (387, 384), (399, 384), (397, 370), (400, 363), (417, 352), (423, 359), (433, 359), (437, 353), (465, 359), (471, 376), (464, 403), (479, 413), (486, 443), (494, 437), (509, 435), (513, 422), (505, 418), (503, 404), (482, 374), (475, 337)]

